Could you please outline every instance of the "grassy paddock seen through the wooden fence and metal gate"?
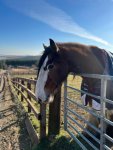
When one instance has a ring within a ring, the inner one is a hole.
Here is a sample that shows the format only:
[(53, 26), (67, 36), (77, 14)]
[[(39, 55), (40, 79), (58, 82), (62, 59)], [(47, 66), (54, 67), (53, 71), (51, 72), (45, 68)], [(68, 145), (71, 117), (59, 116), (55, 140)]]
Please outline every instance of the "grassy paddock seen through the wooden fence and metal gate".
[[(20, 71), (20, 70), (19, 70)], [(15, 74), (15, 70), (13, 70), (13, 74), (14, 77), (15, 76), (19, 76), (19, 77), (25, 77), (25, 78), (35, 78), (36, 74), (34, 75), (26, 75), (25, 72), (22, 73), (23, 70), (21, 70), (21, 74)], [(72, 75), (70, 75), (68, 77), (68, 85), (72, 86), (72, 87), (76, 87), (77, 89), (80, 89), (80, 85), (81, 85), (81, 81), (82, 79), (80, 77), (73, 77)], [(32, 90), (34, 91), (34, 87), (32, 87)], [(25, 93), (26, 94), (26, 93)], [(75, 92), (73, 90), (68, 89), (68, 97), (75, 100), (78, 103), (82, 103), (81, 98), (80, 98), (80, 93)], [(60, 130), (60, 135), (57, 135), (56, 137), (50, 136), (47, 137), (46, 139), (44, 139), (43, 141), (41, 141), (41, 143), (34, 148), (33, 150), (81, 150), (81, 148), (79, 147), (78, 144), (76, 144), (69, 136), (69, 134), (64, 131), (64, 95), (63, 95), (63, 86), (62, 86), (62, 102), (61, 102), (61, 130)], [(20, 95), (19, 95), (19, 99), (20, 99)], [(37, 109), (39, 109), (39, 106), (37, 104), (37, 102), (35, 102), (34, 100), (32, 100), (32, 103), (34, 106), (37, 107)], [(23, 101), (22, 105), (24, 106), (25, 110), (27, 111), (27, 103), (25, 101)], [(83, 116), (85, 119), (88, 119), (88, 113), (86, 113), (85, 110), (79, 108), (77, 105), (73, 105), (71, 103), (68, 103), (68, 107), (71, 108), (71, 110), (76, 111), (80, 116)], [(83, 120), (78, 119), (78, 117), (74, 116), (71, 114), (71, 116), (77, 120), (77, 122), (82, 125), (83, 127), (85, 127), (85, 123)], [(39, 133), (39, 121), (33, 116), (33, 113), (29, 113), (29, 117), (30, 120), (32, 121), (32, 124), (35, 128), (35, 130), (37, 131), (37, 133)], [(87, 120), (86, 119), (86, 120)], [(73, 123), (71, 120), (69, 120), (69, 122), (77, 128), (77, 130), (79, 132), (82, 132), (81, 128), (76, 125), (75, 123)], [(48, 106), (47, 106), (47, 126), (48, 126)], [(71, 129), (72, 130), (72, 129)], [(74, 130), (72, 130), (73, 133), (78, 137), (78, 139), (80, 141), (82, 141), (86, 147), (88, 149), (91, 149), (91, 147), (89, 145), (86, 144), (86, 142), (83, 141), (83, 139), (78, 136), (77, 133), (75, 133)]]

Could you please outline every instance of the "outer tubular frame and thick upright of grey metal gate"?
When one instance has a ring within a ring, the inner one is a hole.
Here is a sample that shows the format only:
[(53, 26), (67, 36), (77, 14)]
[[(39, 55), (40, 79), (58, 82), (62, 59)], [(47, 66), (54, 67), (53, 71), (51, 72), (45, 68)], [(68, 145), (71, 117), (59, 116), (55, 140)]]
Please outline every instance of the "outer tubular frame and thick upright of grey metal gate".
[[(71, 73), (71, 75), (74, 75)], [(100, 124), (101, 124), (101, 130), (100, 130), (100, 150), (104, 150), (104, 149), (109, 149), (110, 148), (105, 145), (105, 137), (109, 140), (109, 141), (112, 141), (113, 142), (113, 139), (106, 134), (106, 126), (105, 126), (105, 122), (109, 122), (110, 125), (113, 126), (113, 122), (112, 121), (109, 121), (108, 119), (105, 119), (105, 104), (106, 102), (108, 103), (112, 103), (113, 102), (111, 100), (108, 100), (106, 98), (106, 89), (107, 89), (107, 81), (108, 80), (113, 80), (113, 76), (109, 76), (109, 75), (99, 75), (99, 74), (78, 74), (77, 76), (81, 76), (81, 77), (87, 77), (87, 78), (95, 78), (95, 79), (100, 79), (101, 80), (101, 94), (100, 96), (96, 96), (96, 95), (93, 95), (93, 94), (90, 94), (88, 92), (85, 92), (85, 91), (82, 91), (82, 90), (78, 90), (76, 88), (73, 88), (71, 86), (68, 86), (67, 84), (67, 79), (66, 81), (64, 82), (64, 129), (70, 134), (70, 136), (79, 144), (79, 146), (82, 148), (82, 149), (87, 149), (77, 138), (76, 136), (74, 136), (74, 134), (68, 130), (68, 127), (67, 127), (67, 113), (68, 113), (68, 105), (67, 105), (67, 102), (68, 102), (68, 97), (67, 97), (67, 88), (71, 88), (77, 92), (80, 92), (80, 93), (85, 93), (85, 94), (88, 94), (94, 98), (98, 98), (100, 99), (100, 105), (101, 105), (101, 110), (100, 110)], [(81, 105), (81, 104), (80, 104)], [(85, 106), (84, 106), (85, 107)], [(97, 116), (95, 114), (95, 116)], [(76, 130), (75, 130), (76, 131)], [(77, 132), (77, 131), (76, 131)], [(83, 136), (84, 137), (84, 136)], [(89, 140), (88, 140), (88, 144), (89, 144)]]

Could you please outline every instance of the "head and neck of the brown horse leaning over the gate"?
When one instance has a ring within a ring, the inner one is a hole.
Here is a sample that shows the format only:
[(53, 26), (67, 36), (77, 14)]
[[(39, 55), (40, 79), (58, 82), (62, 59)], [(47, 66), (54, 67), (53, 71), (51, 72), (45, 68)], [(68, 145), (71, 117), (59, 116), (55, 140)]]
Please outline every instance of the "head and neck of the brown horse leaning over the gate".
[[(52, 101), (58, 86), (70, 72), (104, 74), (105, 66), (103, 49), (78, 43), (55, 43), (50, 40), (50, 46), (45, 47), (39, 61), (37, 98), (42, 102)], [(92, 83), (94, 82), (95, 80), (92, 80)]]

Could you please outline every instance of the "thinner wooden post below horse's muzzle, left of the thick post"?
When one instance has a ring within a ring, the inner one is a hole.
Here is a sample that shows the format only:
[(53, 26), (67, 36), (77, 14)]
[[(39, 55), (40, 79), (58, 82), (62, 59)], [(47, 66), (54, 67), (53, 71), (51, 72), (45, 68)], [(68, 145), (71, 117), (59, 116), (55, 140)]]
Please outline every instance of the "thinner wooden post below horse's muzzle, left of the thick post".
[(46, 137), (46, 104), (40, 104), (40, 139)]

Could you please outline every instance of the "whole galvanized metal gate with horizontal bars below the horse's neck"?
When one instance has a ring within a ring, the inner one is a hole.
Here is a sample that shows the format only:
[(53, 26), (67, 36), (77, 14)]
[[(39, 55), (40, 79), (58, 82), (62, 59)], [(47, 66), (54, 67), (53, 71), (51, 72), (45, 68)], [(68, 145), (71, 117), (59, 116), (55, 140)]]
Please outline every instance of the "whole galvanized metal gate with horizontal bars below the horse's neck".
[[(107, 81), (113, 80), (113, 76), (88, 75), (88, 74), (82, 74), (81, 76), (88, 77), (88, 78), (96, 78), (101, 80), (101, 95), (96, 96), (91, 93), (81, 91), (80, 89), (69, 86), (67, 81), (65, 81), (64, 83), (64, 129), (69, 133), (69, 135), (76, 141), (76, 143), (78, 143), (78, 145), (83, 150), (87, 150), (87, 149), (110, 150), (111, 146), (109, 147), (108, 143), (110, 143), (113, 146), (113, 139), (106, 134), (105, 128), (106, 128), (106, 124), (113, 126), (113, 122), (108, 120), (105, 117), (105, 105), (106, 103), (110, 103), (111, 105), (113, 105), (113, 101), (106, 98)], [(87, 95), (92, 96), (93, 98), (100, 99), (101, 111), (97, 113), (96, 111), (93, 111), (91, 108), (85, 107), (83, 104), (79, 103), (80, 100), (78, 101), (75, 98), (71, 98), (69, 96), (70, 93), (69, 90), (73, 91), (73, 93), (74, 92), (86, 93)], [(97, 128), (92, 123), (90, 123), (87, 117), (84, 118), (82, 112), (81, 114), (79, 114), (76, 111), (78, 109), (81, 109), (86, 113), (90, 113), (92, 116), (98, 118), (100, 120), (99, 128)], [(100, 138), (97, 138), (93, 133), (88, 131), (88, 129), (86, 129), (81, 122), (84, 122), (84, 124), (87, 124), (90, 128), (92, 128), (97, 133), (99, 133)], [(91, 137), (91, 139), (93, 140), (89, 140), (88, 138), (86, 138), (86, 136), (82, 134), (82, 131), (85, 131), (85, 133), (87, 133), (87, 135), (89, 135), (89, 137)]]

